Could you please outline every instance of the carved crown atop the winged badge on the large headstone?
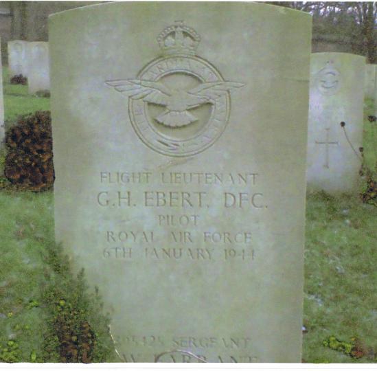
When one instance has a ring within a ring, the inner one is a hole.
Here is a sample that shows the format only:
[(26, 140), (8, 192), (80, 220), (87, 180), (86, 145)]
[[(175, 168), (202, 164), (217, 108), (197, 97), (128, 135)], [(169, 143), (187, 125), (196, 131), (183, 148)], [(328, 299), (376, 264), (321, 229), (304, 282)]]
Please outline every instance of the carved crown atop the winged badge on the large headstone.
[(164, 55), (188, 54), (195, 55), (201, 36), (183, 21), (176, 21), (174, 25), (166, 27), (157, 37), (157, 41)]

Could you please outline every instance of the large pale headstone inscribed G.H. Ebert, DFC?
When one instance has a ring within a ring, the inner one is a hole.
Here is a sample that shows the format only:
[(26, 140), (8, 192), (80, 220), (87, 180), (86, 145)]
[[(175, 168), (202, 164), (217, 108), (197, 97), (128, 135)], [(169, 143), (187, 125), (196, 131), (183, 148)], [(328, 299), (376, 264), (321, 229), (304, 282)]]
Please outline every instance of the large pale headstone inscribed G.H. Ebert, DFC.
[(118, 361), (301, 361), (310, 29), (262, 3), (50, 16), (56, 240)]

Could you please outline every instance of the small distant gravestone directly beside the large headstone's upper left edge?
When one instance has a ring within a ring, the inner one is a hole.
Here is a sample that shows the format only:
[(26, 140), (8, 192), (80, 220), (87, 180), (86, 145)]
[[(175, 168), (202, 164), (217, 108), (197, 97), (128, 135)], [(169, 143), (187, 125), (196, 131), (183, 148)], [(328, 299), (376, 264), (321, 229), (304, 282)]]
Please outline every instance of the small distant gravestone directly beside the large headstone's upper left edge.
[(29, 93), (49, 90), (49, 43), (44, 41), (28, 43), (27, 62)]

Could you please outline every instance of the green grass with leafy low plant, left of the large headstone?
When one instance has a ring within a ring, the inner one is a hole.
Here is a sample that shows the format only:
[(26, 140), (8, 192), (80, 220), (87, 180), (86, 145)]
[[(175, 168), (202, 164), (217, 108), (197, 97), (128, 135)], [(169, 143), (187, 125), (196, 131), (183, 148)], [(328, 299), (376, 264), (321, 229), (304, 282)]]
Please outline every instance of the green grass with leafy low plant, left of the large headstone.
[(0, 361), (114, 360), (100, 297), (54, 243), (52, 192), (2, 190), (0, 205)]

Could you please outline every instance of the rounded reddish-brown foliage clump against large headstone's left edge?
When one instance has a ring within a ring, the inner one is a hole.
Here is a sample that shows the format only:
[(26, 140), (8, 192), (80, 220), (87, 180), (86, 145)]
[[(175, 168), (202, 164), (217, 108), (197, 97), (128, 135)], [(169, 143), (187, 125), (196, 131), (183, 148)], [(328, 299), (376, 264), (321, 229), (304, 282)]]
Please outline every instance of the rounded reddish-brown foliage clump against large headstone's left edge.
[(25, 115), (5, 135), (8, 153), (4, 175), (23, 190), (40, 192), (54, 184), (49, 111)]

